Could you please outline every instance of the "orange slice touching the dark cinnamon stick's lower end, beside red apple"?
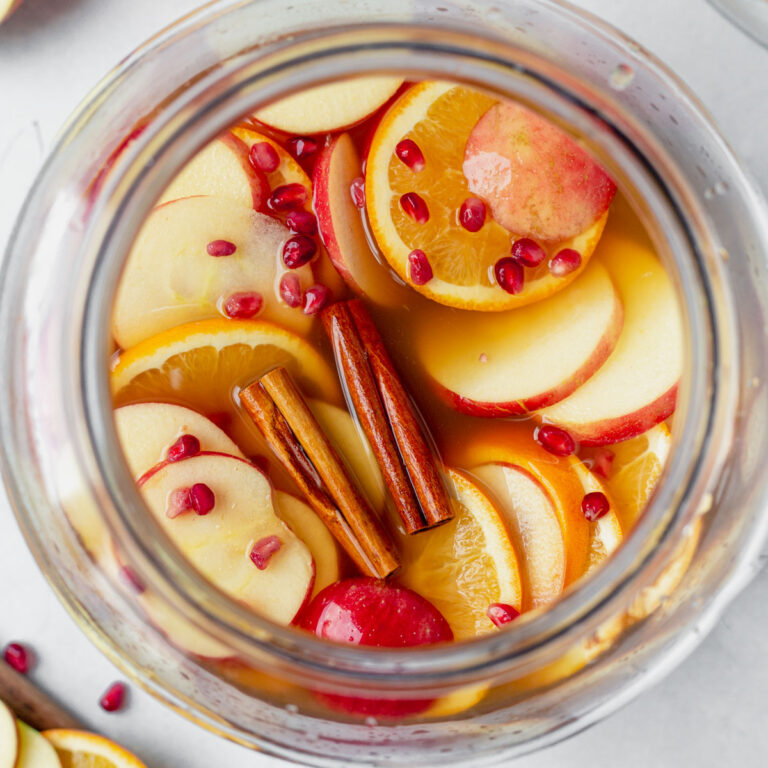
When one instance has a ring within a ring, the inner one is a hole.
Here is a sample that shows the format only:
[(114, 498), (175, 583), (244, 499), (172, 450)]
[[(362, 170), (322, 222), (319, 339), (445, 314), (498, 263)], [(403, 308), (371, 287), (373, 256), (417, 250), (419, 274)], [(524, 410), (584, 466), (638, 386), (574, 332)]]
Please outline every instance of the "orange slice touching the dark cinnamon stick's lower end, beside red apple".
[(463, 472), (449, 474), (458, 498), (456, 517), (400, 539), (398, 580), (435, 605), (456, 640), (467, 640), (494, 630), (486, 615), (491, 603), (520, 610), (520, 568), (493, 503)]

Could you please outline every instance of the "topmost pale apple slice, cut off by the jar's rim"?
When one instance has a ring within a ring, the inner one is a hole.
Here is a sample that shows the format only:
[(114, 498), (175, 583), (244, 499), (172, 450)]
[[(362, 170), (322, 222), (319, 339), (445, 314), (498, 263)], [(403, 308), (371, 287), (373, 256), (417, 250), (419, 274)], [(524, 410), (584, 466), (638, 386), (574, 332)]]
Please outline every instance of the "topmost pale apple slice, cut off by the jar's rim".
[(402, 84), (402, 77), (392, 75), (350, 77), (287, 96), (254, 117), (286, 133), (338, 131), (373, 114)]

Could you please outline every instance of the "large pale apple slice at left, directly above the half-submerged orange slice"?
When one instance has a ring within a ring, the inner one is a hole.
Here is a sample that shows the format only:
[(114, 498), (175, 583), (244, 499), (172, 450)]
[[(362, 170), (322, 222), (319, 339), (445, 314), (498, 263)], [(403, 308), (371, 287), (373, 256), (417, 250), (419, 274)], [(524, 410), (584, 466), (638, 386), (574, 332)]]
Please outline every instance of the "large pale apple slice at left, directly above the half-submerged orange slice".
[[(258, 294), (260, 319), (305, 333), (312, 318), (289, 307), (277, 290), (288, 272), (303, 288), (314, 282), (309, 265), (284, 266), (289, 237), (272, 217), (224, 197), (188, 197), (155, 208), (123, 271), (112, 320), (115, 340), (126, 349), (168, 328), (220, 317), (227, 299), (242, 293)], [(234, 252), (210, 255), (222, 247)]]

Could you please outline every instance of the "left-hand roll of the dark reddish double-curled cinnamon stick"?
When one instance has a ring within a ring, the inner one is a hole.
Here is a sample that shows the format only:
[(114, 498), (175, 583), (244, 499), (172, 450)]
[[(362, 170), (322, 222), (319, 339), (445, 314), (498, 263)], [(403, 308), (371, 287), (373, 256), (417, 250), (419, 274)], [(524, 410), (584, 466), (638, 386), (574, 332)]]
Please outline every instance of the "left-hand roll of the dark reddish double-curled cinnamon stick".
[(367, 355), (346, 302), (326, 307), (320, 315), (331, 341), (336, 363), (346, 383), (357, 418), (368, 437), (384, 481), (407, 533), (425, 527), (421, 509), (389, 427)]

